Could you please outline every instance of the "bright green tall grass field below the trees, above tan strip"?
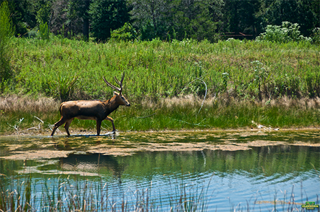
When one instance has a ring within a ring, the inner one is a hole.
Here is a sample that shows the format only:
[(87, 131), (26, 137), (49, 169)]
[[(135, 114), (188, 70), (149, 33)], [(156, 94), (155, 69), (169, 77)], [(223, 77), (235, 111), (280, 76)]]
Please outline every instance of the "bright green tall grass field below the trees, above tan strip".
[[(273, 99), (320, 95), (320, 49), (308, 42), (152, 40), (96, 44), (58, 38), (16, 38), (12, 42), (16, 81), (6, 88), (7, 94), (45, 94), (59, 99), (51, 81), (63, 77), (60, 84), (74, 89), (69, 98), (105, 98), (110, 88), (102, 77), (112, 79), (124, 70), (125, 94), (138, 99), (204, 96), (203, 83), (190, 83), (197, 78), (208, 85), (208, 96)], [(77, 83), (68, 86), (75, 78)]]

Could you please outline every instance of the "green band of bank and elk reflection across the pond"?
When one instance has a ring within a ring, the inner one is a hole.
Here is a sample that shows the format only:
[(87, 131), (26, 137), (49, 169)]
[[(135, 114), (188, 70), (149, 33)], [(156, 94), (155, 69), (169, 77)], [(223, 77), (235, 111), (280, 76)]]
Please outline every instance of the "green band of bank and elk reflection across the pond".
[[(250, 176), (284, 176), (288, 173), (319, 169), (320, 147), (251, 146), (250, 150), (139, 152), (126, 157), (110, 155), (69, 155), (60, 159), (63, 170), (112, 174), (121, 183), (123, 173), (147, 177), (173, 173), (234, 173), (243, 170)], [(314, 165), (314, 166), (313, 166)], [(293, 175), (292, 175), (293, 176)]]

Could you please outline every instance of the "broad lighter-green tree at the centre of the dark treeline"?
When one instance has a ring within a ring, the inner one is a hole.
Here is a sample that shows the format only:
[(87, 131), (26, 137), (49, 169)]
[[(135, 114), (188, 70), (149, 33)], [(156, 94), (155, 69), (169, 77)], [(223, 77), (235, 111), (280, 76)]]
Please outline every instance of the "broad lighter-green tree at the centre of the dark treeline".
[(131, 0), (134, 26), (142, 40), (170, 38), (202, 40), (214, 37), (222, 0)]

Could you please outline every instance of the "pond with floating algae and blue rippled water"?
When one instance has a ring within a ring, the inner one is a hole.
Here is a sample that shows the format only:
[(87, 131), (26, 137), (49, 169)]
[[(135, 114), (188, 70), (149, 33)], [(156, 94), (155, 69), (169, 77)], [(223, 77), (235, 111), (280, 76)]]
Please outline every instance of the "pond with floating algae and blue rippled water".
[(319, 204), (320, 133), (3, 136), (0, 173), (7, 210), (304, 211)]

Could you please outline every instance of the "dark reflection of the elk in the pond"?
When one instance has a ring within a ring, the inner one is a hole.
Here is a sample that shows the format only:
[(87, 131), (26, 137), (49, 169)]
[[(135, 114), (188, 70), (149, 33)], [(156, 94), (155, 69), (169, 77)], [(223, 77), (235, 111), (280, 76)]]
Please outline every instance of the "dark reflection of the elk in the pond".
[(60, 158), (60, 167), (63, 170), (94, 172), (99, 174), (103, 174), (108, 170), (113, 176), (118, 178), (119, 183), (121, 183), (121, 175), (125, 170), (125, 165), (119, 163), (115, 157), (101, 154), (71, 154), (66, 158)]

